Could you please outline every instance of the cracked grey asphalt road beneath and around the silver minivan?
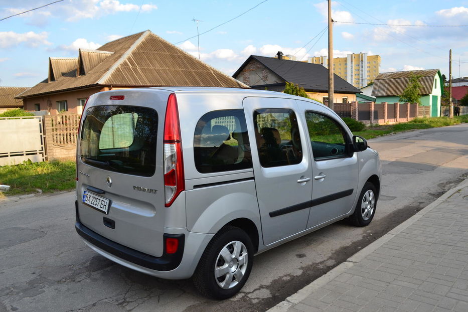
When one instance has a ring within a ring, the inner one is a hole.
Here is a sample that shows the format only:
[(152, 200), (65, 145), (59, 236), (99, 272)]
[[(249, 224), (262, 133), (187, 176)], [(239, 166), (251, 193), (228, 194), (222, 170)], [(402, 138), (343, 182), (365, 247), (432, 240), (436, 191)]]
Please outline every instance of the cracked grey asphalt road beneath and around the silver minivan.
[(382, 160), (373, 222), (345, 221), (255, 257), (242, 291), (200, 296), (190, 280), (163, 280), (115, 264), (74, 230), (74, 193), (0, 201), (0, 312), (264, 311), (425, 207), (468, 174), (468, 124), (369, 141)]

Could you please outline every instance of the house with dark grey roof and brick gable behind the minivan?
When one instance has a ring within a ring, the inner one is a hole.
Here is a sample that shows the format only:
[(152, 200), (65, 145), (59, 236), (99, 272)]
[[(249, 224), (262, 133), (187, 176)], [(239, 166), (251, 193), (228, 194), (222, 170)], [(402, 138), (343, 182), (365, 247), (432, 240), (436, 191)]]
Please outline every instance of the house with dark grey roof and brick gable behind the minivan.
[[(253, 89), (282, 92), (286, 82), (304, 88), (310, 98), (328, 101), (328, 68), (320, 64), (305, 63), (283, 59), (278, 52), (277, 58), (251, 55), (232, 75)], [(356, 101), (361, 91), (343, 78), (334, 75), (335, 102)]]

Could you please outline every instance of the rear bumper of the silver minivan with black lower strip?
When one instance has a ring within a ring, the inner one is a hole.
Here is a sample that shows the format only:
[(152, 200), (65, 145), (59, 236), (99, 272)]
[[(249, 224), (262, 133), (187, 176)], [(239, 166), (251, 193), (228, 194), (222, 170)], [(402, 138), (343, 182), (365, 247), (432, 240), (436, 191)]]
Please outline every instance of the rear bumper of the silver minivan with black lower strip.
[[(213, 237), (213, 234), (188, 232), (185, 228), (167, 229), (177, 232), (177, 234), (165, 233), (164, 237), (179, 238), (179, 248), (174, 254), (164, 253), (161, 257), (154, 257), (111, 241), (87, 228), (80, 222), (77, 202), (75, 202), (75, 207), (75, 229), (86, 245), (116, 263), (161, 278), (184, 279), (191, 277), (203, 251)], [(166, 250), (166, 246), (164, 250)]]

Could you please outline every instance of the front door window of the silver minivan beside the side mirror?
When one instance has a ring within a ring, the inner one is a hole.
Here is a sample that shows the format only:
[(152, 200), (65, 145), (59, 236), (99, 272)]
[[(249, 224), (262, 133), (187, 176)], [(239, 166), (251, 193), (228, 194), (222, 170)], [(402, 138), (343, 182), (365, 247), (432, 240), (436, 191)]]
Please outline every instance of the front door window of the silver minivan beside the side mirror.
[(349, 139), (343, 127), (335, 119), (307, 111), (305, 121), (315, 161), (349, 157)]

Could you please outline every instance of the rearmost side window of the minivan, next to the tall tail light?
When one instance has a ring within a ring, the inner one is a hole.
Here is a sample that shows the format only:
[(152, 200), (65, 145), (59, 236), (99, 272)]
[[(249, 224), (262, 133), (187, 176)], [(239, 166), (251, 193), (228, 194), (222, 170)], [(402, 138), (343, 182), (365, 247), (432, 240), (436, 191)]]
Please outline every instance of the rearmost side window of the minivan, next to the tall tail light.
[(252, 168), (244, 111), (217, 110), (203, 115), (195, 128), (194, 158), (203, 174)]

